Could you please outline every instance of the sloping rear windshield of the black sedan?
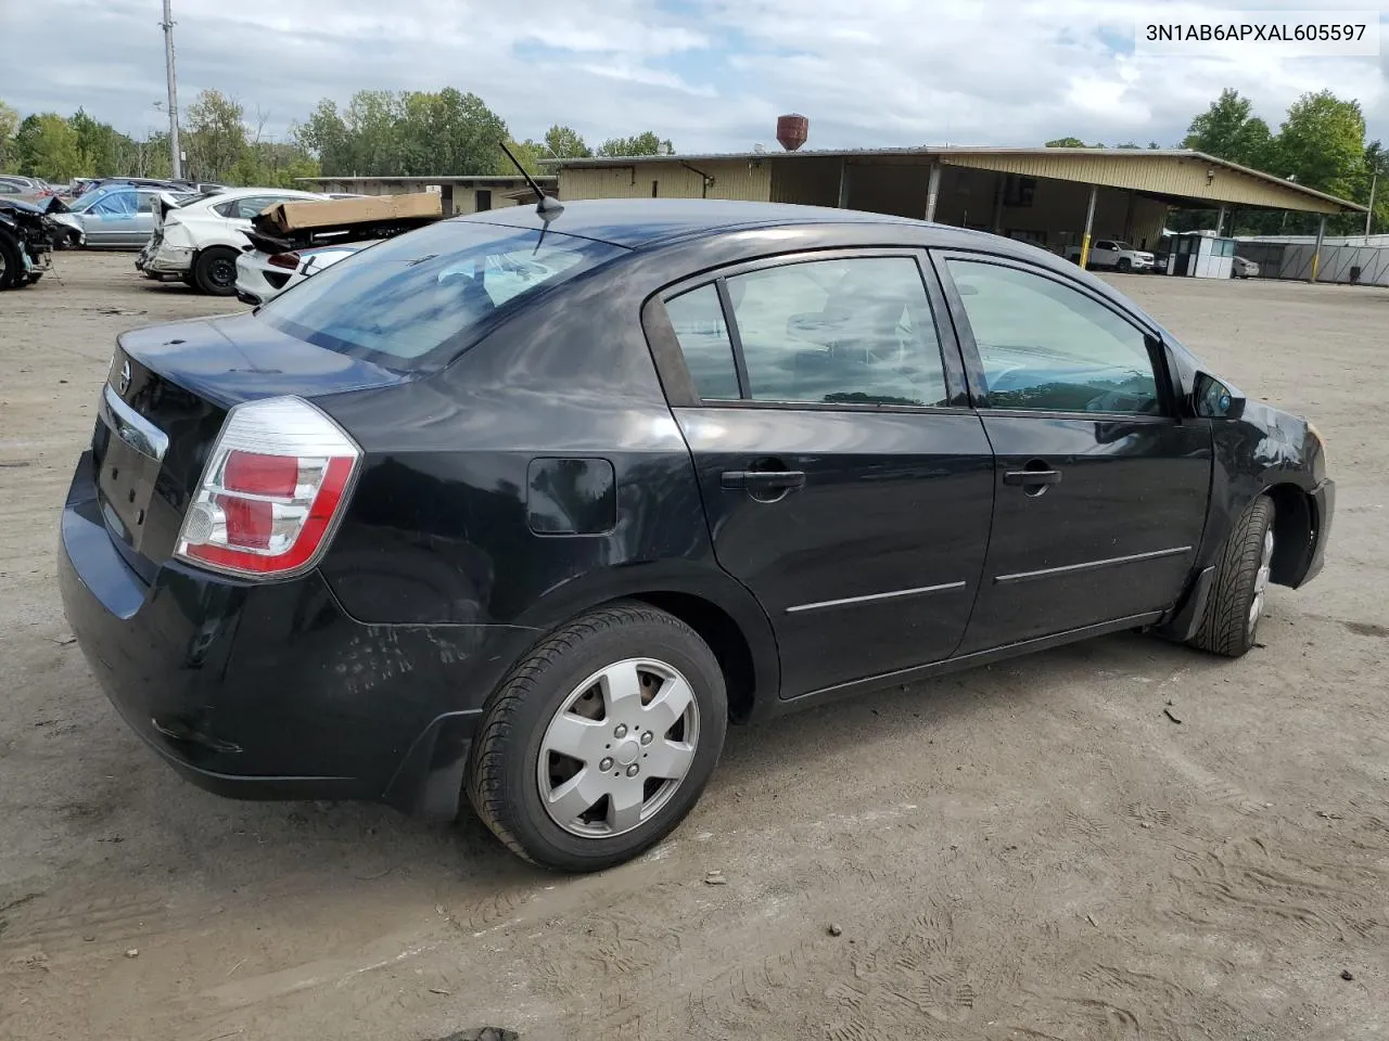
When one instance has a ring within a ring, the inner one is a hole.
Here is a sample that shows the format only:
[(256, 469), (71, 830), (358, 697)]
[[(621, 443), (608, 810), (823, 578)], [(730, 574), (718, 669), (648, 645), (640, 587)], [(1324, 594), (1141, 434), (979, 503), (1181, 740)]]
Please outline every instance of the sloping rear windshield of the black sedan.
[(440, 221), (347, 257), (257, 312), (275, 329), (393, 369), (436, 368), (485, 325), (621, 246)]

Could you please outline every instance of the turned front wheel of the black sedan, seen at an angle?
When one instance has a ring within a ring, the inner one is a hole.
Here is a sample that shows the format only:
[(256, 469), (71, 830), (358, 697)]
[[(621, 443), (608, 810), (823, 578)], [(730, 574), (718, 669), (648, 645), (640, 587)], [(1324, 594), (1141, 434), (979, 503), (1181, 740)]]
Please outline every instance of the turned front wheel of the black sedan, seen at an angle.
[(1260, 496), (1225, 540), (1192, 647), (1242, 658), (1254, 645), (1274, 562), (1274, 501)]

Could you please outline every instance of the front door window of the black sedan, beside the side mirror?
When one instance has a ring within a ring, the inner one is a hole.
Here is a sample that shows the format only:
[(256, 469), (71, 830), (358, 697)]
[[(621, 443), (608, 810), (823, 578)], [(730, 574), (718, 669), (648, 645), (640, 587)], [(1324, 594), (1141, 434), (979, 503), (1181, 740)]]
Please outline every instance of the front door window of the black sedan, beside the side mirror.
[(989, 404), (1049, 412), (1160, 411), (1147, 337), (1054, 279), (946, 261), (983, 362)]

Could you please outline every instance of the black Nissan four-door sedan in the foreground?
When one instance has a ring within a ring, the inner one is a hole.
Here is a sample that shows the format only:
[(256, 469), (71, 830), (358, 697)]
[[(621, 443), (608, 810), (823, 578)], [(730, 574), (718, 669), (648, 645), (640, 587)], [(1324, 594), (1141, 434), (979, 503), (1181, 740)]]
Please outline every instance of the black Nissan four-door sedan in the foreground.
[(558, 210), (119, 337), (63, 600), (188, 779), (467, 797), (593, 870), (679, 823), (729, 722), (1115, 630), (1239, 657), (1321, 569), (1311, 423), (1072, 264), (843, 210)]

